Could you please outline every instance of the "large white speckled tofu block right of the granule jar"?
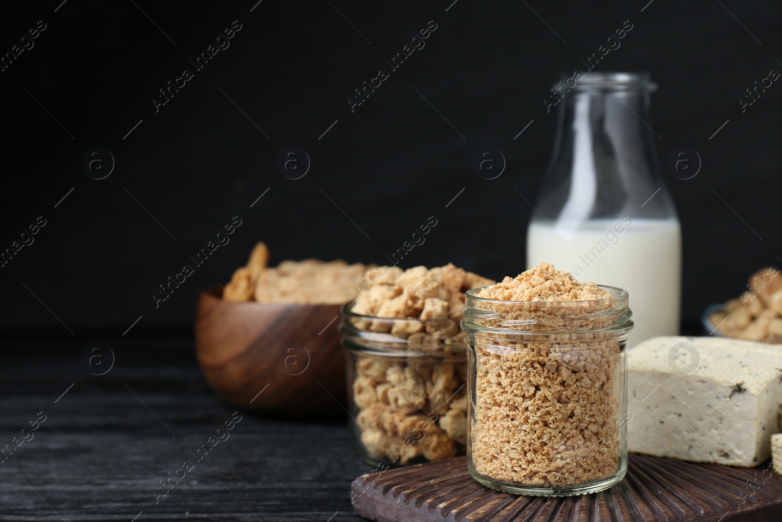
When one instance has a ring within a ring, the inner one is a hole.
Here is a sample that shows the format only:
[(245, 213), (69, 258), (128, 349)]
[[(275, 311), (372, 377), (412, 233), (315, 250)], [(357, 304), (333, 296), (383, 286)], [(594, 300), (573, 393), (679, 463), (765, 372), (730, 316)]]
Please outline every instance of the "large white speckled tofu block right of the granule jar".
[(628, 451), (758, 466), (780, 431), (782, 349), (653, 337), (627, 352)]

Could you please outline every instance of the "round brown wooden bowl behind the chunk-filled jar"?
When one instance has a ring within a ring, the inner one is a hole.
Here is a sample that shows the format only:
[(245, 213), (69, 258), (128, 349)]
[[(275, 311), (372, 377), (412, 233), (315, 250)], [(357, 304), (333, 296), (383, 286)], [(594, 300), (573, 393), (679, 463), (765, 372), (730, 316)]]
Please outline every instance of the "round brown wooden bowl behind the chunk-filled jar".
[(341, 304), (235, 303), (219, 286), (201, 293), (195, 353), (226, 401), (286, 416), (342, 413), (345, 351)]

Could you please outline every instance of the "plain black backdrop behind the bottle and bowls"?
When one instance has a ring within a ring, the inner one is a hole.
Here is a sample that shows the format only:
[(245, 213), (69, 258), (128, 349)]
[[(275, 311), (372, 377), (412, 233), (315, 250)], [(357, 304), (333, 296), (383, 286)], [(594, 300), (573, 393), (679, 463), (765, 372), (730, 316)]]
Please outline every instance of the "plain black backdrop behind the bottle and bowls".
[[(402, 266), (453, 261), (515, 275), (533, 209), (514, 188), (534, 200), (554, 142), (556, 112), (543, 100), (626, 20), (632, 31), (597, 70), (650, 71), (662, 163), (681, 146), (703, 163), (690, 180), (665, 173), (683, 225), (683, 319), (696, 321), (705, 305), (737, 296), (750, 273), (780, 263), (782, 87), (744, 113), (739, 103), (782, 70), (778, 3), (452, 2), (4, 8), (0, 52), (38, 20), (46, 29), (0, 73), (0, 249), (38, 216), (47, 225), (0, 268), (0, 329), (120, 335), (143, 315), (132, 334), (184, 332), (199, 291), (227, 281), (258, 240), (273, 263), (384, 263), (429, 216), (438, 225)], [(242, 29), (230, 47), (156, 112), (158, 89), (194, 69), (188, 60), (234, 20)], [(437, 29), (425, 48), (351, 112), (354, 89), (388, 69), (429, 20)], [(81, 169), (93, 146), (116, 160), (108, 178)], [(311, 160), (298, 180), (276, 167), (289, 146)], [(507, 158), (500, 178), (472, 171), (483, 146)], [(231, 242), (155, 308), (158, 286), (237, 215)]]

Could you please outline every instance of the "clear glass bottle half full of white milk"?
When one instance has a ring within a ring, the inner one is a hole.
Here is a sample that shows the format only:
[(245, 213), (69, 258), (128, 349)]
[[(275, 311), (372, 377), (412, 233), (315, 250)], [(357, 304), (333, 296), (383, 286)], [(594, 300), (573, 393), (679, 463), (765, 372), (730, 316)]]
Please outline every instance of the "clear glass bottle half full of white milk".
[[(679, 333), (681, 229), (655, 153), (648, 73), (563, 75), (554, 155), (527, 231), (527, 266), (624, 288), (628, 347)], [(558, 100), (555, 101), (555, 100)]]

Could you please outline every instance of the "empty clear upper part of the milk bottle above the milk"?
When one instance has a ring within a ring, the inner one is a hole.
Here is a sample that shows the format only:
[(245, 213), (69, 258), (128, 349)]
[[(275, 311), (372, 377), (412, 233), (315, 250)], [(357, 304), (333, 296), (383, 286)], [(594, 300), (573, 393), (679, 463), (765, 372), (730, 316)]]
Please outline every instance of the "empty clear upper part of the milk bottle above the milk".
[(675, 218), (655, 151), (648, 88), (576, 86), (559, 105), (554, 155), (538, 200), (543, 216), (566, 228), (625, 215)]

